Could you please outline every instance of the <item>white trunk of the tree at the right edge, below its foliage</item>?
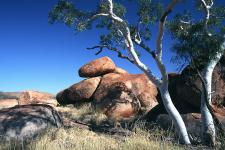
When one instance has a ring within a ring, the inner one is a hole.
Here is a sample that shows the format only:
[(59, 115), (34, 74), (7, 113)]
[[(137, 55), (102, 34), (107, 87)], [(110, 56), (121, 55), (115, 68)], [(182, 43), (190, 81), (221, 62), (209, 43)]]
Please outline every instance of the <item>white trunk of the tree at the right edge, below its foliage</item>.
[[(209, 64), (203, 70), (203, 79), (205, 81), (205, 90), (202, 90), (201, 94), (201, 115), (202, 115), (202, 140), (207, 145), (215, 145), (216, 131), (212, 114), (210, 113), (206, 100), (205, 92), (207, 95), (208, 103), (211, 105), (212, 101), (212, 74), (216, 64), (222, 57), (222, 52), (217, 53), (216, 57), (209, 62)], [(203, 85), (204, 86), (204, 85)]]

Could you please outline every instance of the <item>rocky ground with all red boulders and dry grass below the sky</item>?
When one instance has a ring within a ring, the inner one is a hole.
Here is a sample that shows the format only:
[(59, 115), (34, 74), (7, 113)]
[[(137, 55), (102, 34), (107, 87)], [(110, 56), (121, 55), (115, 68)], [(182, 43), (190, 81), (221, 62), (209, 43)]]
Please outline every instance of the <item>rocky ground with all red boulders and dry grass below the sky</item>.
[[(222, 65), (217, 65), (213, 73), (212, 87), (213, 110), (223, 126), (224, 60), (221, 60)], [(144, 74), (130, 74), (117, 67), (108, 57), (89, 62), (78, 72), (86, 79), (62, 90), (56, 96), (38, 91), (0, 92), (0, 147), (207, 148), (178, 145), (179, 138), (172, 120), (166, 114), (157, 87)], [(189, 67), (181, 74), (169, 74), (169, 90), (175, 106), (182, 113), (192, 143), (201, 145), (201, 84), (195, 74)], [(12, 141), (14, 145), (9, 143)], [(224, 147), (222, 141), (225, 139), (218, 141), (218, 147)]]

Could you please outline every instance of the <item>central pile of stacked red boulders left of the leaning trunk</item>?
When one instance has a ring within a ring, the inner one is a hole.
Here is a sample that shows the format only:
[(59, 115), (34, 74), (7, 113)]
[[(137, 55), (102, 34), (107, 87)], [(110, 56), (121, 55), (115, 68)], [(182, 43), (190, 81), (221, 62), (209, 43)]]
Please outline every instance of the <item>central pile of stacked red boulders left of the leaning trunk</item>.
[(59, 92), (56, 99), (60, 104), (92, 102), (114, 121), (131, 118), (158, 104), (157, 87), (144, 74), (130, 74), (116, 67), (109, 57), (85, 64), (79, 76), (87, 79)]

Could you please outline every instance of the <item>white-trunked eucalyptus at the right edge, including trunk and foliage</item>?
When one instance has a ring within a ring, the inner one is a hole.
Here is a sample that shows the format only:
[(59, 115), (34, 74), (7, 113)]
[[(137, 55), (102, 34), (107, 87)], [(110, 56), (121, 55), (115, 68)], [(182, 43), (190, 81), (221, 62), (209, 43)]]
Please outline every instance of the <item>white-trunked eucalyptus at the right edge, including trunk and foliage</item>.
[(194, 66), (202, 81), (201, 114), (202, 139), (215, 145), (216, 131), (211, 109), (212, 73), (225, 51), (225, 6), (214, 6), (213, 0), (198, 0), (196, 8), (203, 19), (190, 12), (176, 15), (169, 23), (178, 59)]

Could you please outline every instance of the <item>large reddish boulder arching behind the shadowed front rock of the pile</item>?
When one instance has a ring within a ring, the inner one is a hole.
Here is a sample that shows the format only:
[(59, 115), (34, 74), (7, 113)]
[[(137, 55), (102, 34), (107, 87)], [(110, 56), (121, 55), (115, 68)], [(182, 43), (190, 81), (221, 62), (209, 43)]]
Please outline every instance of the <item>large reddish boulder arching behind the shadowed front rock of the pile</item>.
[(110, 87), (116, 82), (124, 83), (139, 99), (141, 106), (147, 109), (157, 105), (156, 86), (144, 74), (116, 74), (109, 73), (102, 77), (101, 83), (94, 93), (96, 105), (110, 94)]

